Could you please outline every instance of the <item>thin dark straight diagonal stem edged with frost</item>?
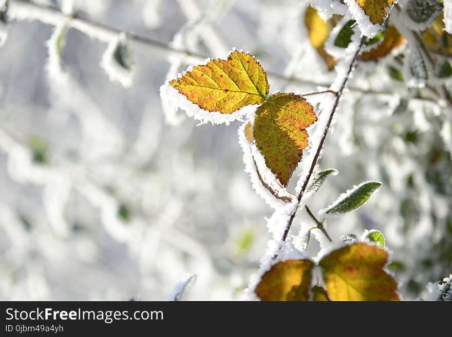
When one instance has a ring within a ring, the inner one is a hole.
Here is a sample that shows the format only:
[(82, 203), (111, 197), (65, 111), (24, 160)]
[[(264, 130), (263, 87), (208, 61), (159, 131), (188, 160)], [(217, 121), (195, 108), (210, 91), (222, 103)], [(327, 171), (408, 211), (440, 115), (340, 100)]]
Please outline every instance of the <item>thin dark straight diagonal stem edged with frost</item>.
[[(322, 148), (323, 148), (323, 145), (325, 143), (325, 139), (326, 139), (326, 137), (328, 135), (328, 131), (329, 131), (330, 126), (331, 126), (331, 122), (333, 121), (334, 113), (336, 112), (337, 107), (339, 105), (339, 102), (341, 100), (342, 94), (344, 93), (344, 90), (347, 87), (347, 83), (349, 81), (350, 74), (353, 72), (354, 65), (356, 63), (356, 60), (357, 60), (358, 56), (361, 53), (361, 49), (363, 48), (364, 42), (365, 42), (365, 37), (363, 37), (361, 39), (360, 46), (357, 49), (355, 55), (353, 56), (352, 61), (350, 62), (350, 66), (348, 68), (348, 71), (347, 71), (347, 74), (346, 74), (346, 76), (344, 78), (344, 81), (341, 84), (341, 88), (337, 91), (336, 99), (334, 101), (333, 109), (331, 110), (330, 117), (328, 119), (328, 123), (327, 123), (327, 125), (325, 127), (325, 131), (323, 133), (322, 139), (321, 139), (321, 141), (318, 144), (317, 151), (315, 152), (314, 158), (313, 158), (312, 163), (311, 163), (311, 167), (310, 167), (308, 175), (306, 176), (306, 179), (305, 179), (305, 181), (303, 183), (302, 189), (298, 193), (297, 202), (296, 202), (296, 204), (294, 206), (294, 209), (291, 212), (291, 215), (290, 215), (289, 220), (287, 222), (286, 229), (284, 230), (284, 234), (283, 234), (283, 237), (281, 239), (281, 242), (284, 242), (287, 239), (287, 235), (289, 234), (289, 230), (290, 230), (290, 227), (292, 226), (293, 220), (295, 218), (296, 211), (298, 210), (300, 202), (302, 201), (303, 194), (306, 191), (306, 187), (308, 186), (309, 180), (311, 179), (311, 175), (314, 172), (315, 165), (317, 165), (317, 161), (318, 161), (318, 159), (320, 157), (320, 153), (322, 152)], [(276, 257), (278, 256), (278, 253), (279, 253), (280, 249), (281, 249), (281, 246), (279, 247), (279, 249), (275, 253), (275, 255), (273, 255), (273, 260), (276, 259)]]

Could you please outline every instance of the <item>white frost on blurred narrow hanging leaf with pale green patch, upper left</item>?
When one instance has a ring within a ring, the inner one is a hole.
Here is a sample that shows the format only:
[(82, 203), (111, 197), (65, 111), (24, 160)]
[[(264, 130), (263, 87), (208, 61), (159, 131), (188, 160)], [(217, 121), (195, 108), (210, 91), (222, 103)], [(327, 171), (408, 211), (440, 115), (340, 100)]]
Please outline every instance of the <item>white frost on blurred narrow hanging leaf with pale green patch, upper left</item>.
[(67, 22), (56, 26), (53, 33), (46, 42), (49, 57), (47, 59), (46, 70), (51, 81), (56, 84), (67, 83), (69, 74), (64, 69), (61, 53), (66, 44), (65, 35), (67, 33)]

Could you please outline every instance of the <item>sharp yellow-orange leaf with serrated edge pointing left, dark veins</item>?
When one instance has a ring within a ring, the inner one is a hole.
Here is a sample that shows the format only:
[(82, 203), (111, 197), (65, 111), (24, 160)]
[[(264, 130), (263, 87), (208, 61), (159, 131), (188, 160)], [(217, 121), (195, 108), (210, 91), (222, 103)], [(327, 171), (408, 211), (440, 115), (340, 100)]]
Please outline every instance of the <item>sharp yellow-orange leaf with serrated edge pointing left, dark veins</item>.
[(267, 73), (251, 54), (241, 51), (233, 51), (228, 60), (193, 67), (170, 85), (201, 109), (221, 113), (261, 104), (269, 92)]

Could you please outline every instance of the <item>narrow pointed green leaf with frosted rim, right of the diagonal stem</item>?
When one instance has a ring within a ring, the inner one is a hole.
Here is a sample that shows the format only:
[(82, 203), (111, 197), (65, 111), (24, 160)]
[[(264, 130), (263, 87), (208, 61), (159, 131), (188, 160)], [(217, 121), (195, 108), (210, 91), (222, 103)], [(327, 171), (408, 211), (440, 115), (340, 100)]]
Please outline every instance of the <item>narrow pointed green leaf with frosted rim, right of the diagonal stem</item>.
[(327, 214), (343, 214), (360, 208), (381, 185), (380, 182), (362, 183), (341, 195), (325, 212)]

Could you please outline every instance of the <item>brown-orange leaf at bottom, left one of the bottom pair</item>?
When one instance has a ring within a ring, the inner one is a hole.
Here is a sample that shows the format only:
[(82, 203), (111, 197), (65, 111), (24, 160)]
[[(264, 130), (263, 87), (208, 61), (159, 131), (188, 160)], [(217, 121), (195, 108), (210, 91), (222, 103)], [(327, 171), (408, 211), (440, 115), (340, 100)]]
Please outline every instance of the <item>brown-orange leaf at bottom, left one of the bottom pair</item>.
[(255, 293), (262, 301), (308, 301), (313, 267), (310, 260), (278, 262), (262, 275)]

